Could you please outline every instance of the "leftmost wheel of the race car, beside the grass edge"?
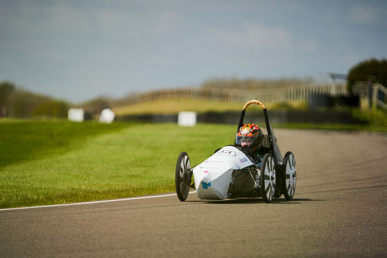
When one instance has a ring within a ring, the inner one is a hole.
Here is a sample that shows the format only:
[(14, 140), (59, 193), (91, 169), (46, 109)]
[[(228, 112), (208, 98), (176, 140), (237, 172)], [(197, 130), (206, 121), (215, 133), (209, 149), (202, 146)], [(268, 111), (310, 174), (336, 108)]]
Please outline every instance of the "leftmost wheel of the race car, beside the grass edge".
[(187, 152), (181, 152), (176, 162), (175, 186), (180, 201), (185, 201), (191, 184), (191, 163)]

